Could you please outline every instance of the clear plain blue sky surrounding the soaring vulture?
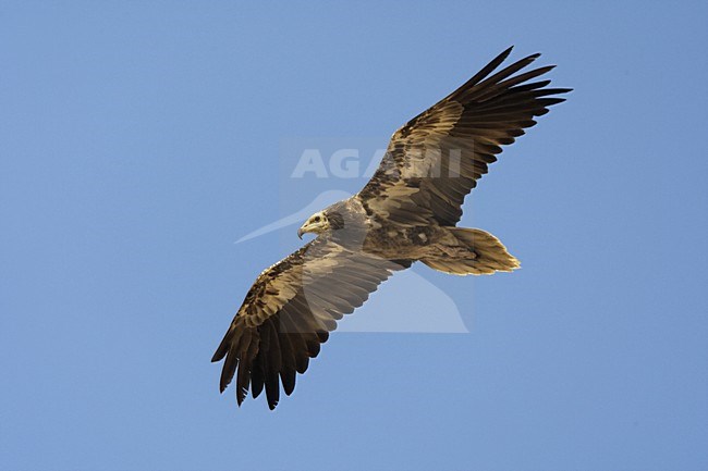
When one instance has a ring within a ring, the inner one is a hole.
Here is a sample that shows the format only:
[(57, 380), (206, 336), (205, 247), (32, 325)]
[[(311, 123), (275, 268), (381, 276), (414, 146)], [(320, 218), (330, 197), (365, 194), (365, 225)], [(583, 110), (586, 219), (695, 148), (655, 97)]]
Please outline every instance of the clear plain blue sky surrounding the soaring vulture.
[[(2, 2), (0, 469), (708, 469), (707, 23), (706, 2)], [(283, 181), (284, 139), (384, 146), (510, 45), (575, 88), (462, 221), (522, 270), (417, 268), (468, 334), (335, 334), (274, 412), (220, 396), (213, 349), (301, 244), (234, 241), (320, 191)]]

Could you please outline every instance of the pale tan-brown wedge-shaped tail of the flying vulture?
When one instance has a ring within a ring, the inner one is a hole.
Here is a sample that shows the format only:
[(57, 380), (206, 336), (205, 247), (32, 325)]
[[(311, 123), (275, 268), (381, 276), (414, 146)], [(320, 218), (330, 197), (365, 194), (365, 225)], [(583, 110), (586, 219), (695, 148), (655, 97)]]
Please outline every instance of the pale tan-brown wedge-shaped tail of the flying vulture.
[(436, 244), (440, 253), (420, 259), (434, 270), (453, 275), (488, 275), (521, 267), (506, 247), (485, 231), (466, 227), (445, 227), (445, 231), (448, 234)]

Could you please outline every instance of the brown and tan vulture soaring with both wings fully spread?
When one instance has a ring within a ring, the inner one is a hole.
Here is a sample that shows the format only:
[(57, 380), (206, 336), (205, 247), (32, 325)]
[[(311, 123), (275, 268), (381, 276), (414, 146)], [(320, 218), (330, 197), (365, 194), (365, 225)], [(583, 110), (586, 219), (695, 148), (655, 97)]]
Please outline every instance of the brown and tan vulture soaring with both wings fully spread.
[[(493, 235), (457, 227), (465, 196), (490, 163), (569, 88), (524, 71), (540, 54), (497, 72), (506, 49), (469, 80), (393, 133), (378, 170), (351, 198), (316, 212), (297, 235), (316, 234), (256, 278), (211, 361), (220, 391), (236, 376), (239, 406), (266, 391), (290, 395), (337, 321), (393, 272), (420, 261), (455, 275), (510, 272), (518, 261)], [(523, 71), (523, 72), (522, 72)]]

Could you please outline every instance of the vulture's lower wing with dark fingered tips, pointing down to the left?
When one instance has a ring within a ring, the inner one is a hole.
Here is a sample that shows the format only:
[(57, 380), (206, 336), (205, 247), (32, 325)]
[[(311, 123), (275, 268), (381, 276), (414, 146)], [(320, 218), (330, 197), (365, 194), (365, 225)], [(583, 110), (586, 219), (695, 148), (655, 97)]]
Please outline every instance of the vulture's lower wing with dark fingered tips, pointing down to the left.
[(268, 406), (295, 387), (337, 320), (362, 306), (391, 273), (411, 265), (354, 252), (318, 237), (265, 270), (248, 290), (211, 361), (225, 358), (221, 392), (236, 375), (236, 399), (264, 386)]

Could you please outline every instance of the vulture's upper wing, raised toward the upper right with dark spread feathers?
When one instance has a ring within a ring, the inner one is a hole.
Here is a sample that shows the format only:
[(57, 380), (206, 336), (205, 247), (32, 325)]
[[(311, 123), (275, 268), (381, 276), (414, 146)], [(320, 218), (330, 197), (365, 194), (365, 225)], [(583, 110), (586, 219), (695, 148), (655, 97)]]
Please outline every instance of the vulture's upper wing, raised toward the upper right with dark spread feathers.
[(564, 101), (567, 88), (533, 82), (553, 66), (518, 73), (540, 54), (492, 72), (502, 52), (474, 77), (391, 137), (381, 164), (359, 191), (367, 212), (402, 224), (454, 225), (465, 196), (509, 145), (536, 124), (535, 116)]

